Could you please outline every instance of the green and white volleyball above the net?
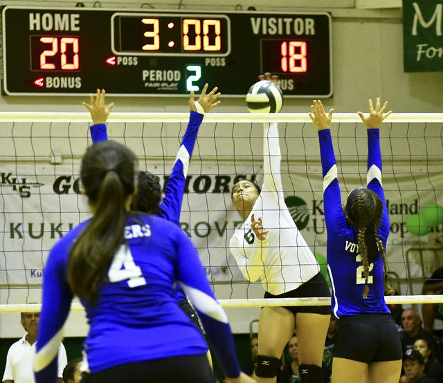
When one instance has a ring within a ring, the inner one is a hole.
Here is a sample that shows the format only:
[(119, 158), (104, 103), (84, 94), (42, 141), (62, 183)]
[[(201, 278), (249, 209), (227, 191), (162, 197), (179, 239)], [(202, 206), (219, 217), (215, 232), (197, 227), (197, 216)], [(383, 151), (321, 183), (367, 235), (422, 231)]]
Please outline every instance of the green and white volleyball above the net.
[(278, 113), (282, 110), (283, 93), (273, 82), (262, 80), (249, 88), (246, 105), (251, 113)]

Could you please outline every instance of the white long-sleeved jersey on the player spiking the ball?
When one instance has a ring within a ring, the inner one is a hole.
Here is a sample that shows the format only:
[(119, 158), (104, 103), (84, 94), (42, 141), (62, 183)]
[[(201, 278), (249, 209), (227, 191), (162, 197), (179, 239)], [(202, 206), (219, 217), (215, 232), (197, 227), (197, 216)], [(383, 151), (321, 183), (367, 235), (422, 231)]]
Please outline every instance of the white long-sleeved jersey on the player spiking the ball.
[[(320, 267), (284, 203), (277, 123), (264, 124), (263, 141), (262, 191), (246, 221), (235, 228), (230, 252), (246, 279), (261, 277), (264, 290), (280, 295), (309, 281)], [(251, 229), (252, 214), (269, 231), (265, 241), (257, 240)]]

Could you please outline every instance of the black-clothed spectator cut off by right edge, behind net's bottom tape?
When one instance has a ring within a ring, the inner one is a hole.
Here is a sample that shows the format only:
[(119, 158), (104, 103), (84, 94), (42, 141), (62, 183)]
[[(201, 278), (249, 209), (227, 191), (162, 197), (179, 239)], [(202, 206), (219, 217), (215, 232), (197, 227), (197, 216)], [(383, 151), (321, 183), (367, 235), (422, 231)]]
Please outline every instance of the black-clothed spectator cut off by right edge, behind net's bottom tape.
[[(443, 267), (433, 272), (431, 278), (424, 282), (423, 295), (443, 294)], [(443, 319), (442, 303), (424, 303), (422, 305), (423, 325), (428, 333), (432, 334), (435, 319)]]

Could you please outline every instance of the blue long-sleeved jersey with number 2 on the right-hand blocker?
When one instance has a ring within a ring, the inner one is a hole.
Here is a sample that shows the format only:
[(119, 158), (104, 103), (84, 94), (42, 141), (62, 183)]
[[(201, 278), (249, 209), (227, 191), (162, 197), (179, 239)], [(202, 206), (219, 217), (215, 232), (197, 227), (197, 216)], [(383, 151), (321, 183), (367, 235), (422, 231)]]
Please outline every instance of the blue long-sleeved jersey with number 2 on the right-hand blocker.
[[(327, 230), (327, 269), (332, 284), (332, 311), (341, 315), (368, 312), (390, 313), (384, 297), (383, 257), (369, 266), (369, 294), (363, 298), (365, 278), (357, 241), (358, 230), (347, 223), (341, 205), (337, 165), (329, 129), (318, 131), (321, 165), (323, 169), (323, 196)], [(389, 217), (381, 186), (381, 153), (379, 129), (368, 129), (367, 187), (383, 202), (379, 237), (386, 249), (389, 234)]]

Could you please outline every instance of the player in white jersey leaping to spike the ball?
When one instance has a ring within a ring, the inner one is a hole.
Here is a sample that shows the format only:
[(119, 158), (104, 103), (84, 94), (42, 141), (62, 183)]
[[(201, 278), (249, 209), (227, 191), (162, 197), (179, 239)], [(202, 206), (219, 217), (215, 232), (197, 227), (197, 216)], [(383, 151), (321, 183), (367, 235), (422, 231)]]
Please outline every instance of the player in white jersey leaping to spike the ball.
[[(266, 80), (270, 80), (266, 74)], [(276, 80), (274, 80), (276, 82)], [(244, 277), (262, 279), (264, 297), (329, 297), (314, 254), (284, 203), (276, 123), (264, 124), (262, 189), (241, 180), (233, 203), (244, 222), (230, 239), (230, 251)], [(265, 307), (258, 327), (257, 382), (275, 382), (278, 359), (297, 330), (301, 382), (322, 382), (321, 364), (329, 306)]]

